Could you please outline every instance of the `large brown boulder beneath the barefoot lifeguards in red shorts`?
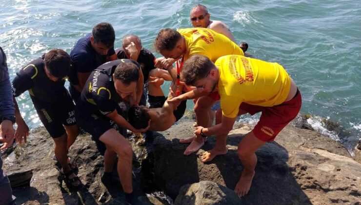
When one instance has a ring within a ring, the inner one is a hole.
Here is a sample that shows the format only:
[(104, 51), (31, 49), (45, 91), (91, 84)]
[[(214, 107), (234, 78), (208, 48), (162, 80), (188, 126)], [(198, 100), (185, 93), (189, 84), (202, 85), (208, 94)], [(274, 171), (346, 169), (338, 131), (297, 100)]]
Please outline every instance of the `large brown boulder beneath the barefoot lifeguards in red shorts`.
[[(214, 138), (195, 154), (184, 156), (187, 144), (179, 139), (194, 131), (191, 122), (180, 123), (161, 132), (154, 140), (155, 182), (175, 198), (180, 187), (212, 181), (230, 189), (237, 184), (243, 166), (237, 145), (249, 127), (233, 130), (228, 153), (202, 163), (200, 155), (213, 147)], [(287, 126), (275, 142), (257, 152), (256, 175), (244, 204), (329, 204), (357, 203), (360, 200), (361, 164), (350, 158), (340, 143), (311, 131)]]

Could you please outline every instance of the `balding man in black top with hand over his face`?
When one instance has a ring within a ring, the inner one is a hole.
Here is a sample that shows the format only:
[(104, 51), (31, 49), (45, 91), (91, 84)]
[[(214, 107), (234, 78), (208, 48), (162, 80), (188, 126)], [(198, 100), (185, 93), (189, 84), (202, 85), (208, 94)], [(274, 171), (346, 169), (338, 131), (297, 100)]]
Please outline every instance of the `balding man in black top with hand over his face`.
[(140, 105), (145, 105), (144, 87), (148, 82), (149, 72), (155, 68), (156, 57), (148, 49), (142, 47), (140, 38), (136, 35), (124, 36), (121, 45), (122, 47), (115, 51), (118, 59), (132, 59), (140, 64), (141, 76), (137, 86), (137, 102)]

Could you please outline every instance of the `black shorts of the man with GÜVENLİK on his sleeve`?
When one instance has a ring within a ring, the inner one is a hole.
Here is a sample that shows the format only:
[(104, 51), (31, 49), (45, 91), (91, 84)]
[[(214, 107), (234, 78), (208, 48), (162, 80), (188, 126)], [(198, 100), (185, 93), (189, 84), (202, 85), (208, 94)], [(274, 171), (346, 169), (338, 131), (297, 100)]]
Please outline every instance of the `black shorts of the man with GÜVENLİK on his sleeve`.
[[(81, 102), (80, 102), (81, 103)], [(75, 117), (79, 126), (84, 129), (86, 132), (92, 135), (92, 140), (97, 144), (98, 151), (101, 155), (104, 155), (106, 146), (102, 143), (99, 138), (109, 129), (116, 129), (121, 135), (126, 137), (126, 129), (123, 129), (118, 126), (114, 121), (105, 117), (104, 115), (97, 113), (90, 113), (87, 110), (82, 110), (81, 106), (76, 106), (75, 108)], [(128, 106), (120, 106), (120, 109), (117, 110), (118, 113), (127, 119)]]

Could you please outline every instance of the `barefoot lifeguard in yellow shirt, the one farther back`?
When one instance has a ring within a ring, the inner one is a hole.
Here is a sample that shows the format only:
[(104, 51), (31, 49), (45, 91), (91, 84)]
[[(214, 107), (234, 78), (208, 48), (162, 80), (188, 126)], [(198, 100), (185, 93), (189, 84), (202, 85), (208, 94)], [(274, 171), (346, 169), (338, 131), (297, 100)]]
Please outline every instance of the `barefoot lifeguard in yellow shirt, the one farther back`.
[[(224, 55), (244, 55), (243, 51), (236, 43), (225, 36), (206, 28), (185, 28), (179, 29), (178, 31), (170, 28), (162, 29), (156, 37), (154, 46), (157, 52), (164, 56), (164, 58), (157, 59), (156, 67), (166, 68), (168, 70), (172, 77), (172, 85), (176, 84), (178, 86), (178, 92), (176, 91), (176, 94), (180, 94), (182, 91), (182, 86), (179, 81), (179, 72), (182, 69), (182, 64), (191, 56), (198, 54), (206, 56), (212, 62), (215, 62)], [(172, 64), (175, 60), (180, 58), (181, 62), (179, 66), (177, 65), (176, 69)], [(178, 97), (172, 98), (167, 102), (178, 105), (183, 100), (195, 99), (200, 96), (200, 90), (194, 89), (179, 95)], [(205, 127), (210, 126), (211, 117), (209, 115), (209, 110), (217, 101), (219, 101), (217, 92), (212, 93), (209, 96), (203, 96), (197, 101), (194, 111), (196, 112), (198, 125)], [(193, 141), (193, 139), (194, 138), (192, 137), (180, 141), (180, 143), (191, 143), (184, 151), (185, 155), (197, 151), (204, 144), (203, 139), (197, 139), (197, 141)]]

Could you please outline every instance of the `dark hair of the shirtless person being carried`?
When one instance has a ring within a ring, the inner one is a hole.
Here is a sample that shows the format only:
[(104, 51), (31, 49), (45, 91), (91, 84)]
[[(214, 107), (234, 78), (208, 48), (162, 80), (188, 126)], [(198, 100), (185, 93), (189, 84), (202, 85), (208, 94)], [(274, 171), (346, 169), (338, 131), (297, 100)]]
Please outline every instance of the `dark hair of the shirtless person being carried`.
[(144, 107), (131, 107), (128, 111), (128, 121), (136, 129), (144, 129), (148, 126), (150, 115)]

